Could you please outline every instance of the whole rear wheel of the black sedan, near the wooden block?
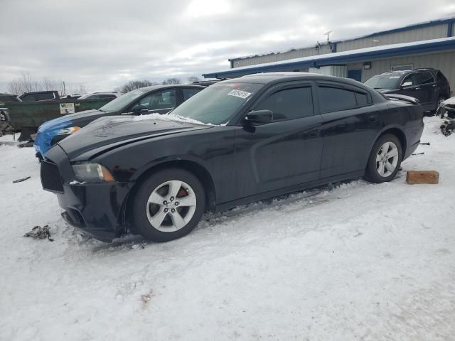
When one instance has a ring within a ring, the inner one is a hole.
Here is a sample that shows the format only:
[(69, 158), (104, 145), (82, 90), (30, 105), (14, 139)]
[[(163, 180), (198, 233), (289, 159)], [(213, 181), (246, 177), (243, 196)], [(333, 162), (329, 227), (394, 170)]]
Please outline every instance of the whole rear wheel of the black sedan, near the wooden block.
[(372, 183), (390, 181), (400, 170), (401, 161), (402, 147), (397, 136), (380, 136), (368, 158), (365, 179)]

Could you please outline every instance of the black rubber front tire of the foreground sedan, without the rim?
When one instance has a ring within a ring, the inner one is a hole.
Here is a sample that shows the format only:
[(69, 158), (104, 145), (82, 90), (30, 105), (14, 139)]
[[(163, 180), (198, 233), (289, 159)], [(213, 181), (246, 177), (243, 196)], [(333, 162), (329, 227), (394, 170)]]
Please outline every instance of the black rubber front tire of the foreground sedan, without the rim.
[[(191, 220), (181, 229), (173, 232), (163, 232), (156, 229), (149, 222), (147, 217), (147, 210), (149, 206), (147, 202), (151, 193), (161, 184), (166, 181), (180, 180), (187, 183), (196, 195), (196, 210), (193, 213)], [(132, 222), (134, 224), (134, 231), (139, 232), (146, 239), (153, 240), (154, 242), (168, 242), (173, 239), (178, 239), (190, 233), (200, 222), (200, 218), (205, 212), (205, 190), (201, 185), (198, 178), (192, 173), (183, 171), (178, 168), (167, 168), (158, 171), (151, 175), (150, 178), (144, 180), (140, 184), (139, 190), (133, 198), (132, 207)]]

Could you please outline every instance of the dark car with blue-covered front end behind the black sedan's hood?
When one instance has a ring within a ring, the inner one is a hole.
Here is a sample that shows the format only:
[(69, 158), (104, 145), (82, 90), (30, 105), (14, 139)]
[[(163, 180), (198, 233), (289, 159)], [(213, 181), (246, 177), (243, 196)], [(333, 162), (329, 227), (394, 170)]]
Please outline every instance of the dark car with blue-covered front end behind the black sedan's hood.
[(154, 85), (123, 94), (97, 110), (86, 110), (46, 121), (38, 128), (36, 157), (41, 161), (54, 144), (79, 131), (91, 121), (122, 114), (166, 114), (200, 92), (200, 85)]

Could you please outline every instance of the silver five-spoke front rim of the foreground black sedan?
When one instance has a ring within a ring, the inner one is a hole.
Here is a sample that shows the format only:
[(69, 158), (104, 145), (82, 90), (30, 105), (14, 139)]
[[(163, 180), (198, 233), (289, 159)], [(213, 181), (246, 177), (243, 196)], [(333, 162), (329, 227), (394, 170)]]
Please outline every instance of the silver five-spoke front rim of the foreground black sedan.
[(147, 200), (146, 214), (155, 229), (176, 232), (193, 218), (196, 204), (196, 194), (188, 183), (169, 180), (153, 190)]

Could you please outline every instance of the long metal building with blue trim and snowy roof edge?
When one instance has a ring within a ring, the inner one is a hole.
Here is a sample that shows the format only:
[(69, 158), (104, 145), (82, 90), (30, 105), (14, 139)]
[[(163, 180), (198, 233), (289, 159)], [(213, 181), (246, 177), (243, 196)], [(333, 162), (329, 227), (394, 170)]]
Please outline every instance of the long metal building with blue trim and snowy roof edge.
[(434, 67), (455, 90), (455, 16), (279, 53), (229, 60), (231, 68), (203, 75), (232, 78), (256, 72), (304, 71), (365, 82), (390, 70)]

